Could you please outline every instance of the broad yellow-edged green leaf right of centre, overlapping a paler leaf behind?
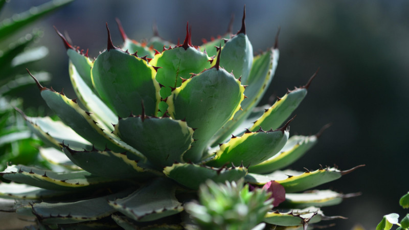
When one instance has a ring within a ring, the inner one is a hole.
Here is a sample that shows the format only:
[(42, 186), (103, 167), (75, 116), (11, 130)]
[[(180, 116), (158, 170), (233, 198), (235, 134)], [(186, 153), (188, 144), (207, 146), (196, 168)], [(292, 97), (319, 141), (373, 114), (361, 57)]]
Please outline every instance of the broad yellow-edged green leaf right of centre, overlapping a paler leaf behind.
[(280, 151), (287, 140), (286, 130), (247, 132), (220, 145), (216, 156), (207, 165), (213, 167), (230, 163), (257, 165)]

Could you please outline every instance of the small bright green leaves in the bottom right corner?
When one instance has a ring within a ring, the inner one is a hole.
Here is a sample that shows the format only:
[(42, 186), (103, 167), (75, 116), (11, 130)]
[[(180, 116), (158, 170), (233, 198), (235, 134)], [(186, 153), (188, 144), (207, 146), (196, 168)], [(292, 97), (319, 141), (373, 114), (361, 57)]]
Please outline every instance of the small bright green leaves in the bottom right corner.
[[(400, 198), (399, 204), (404, 209), (409, 208), (409, 192)], [(409, 229), (409, 214), (406, 214), (406, 216), (403, 217), (400, 223), (399, 223), (399, 214), (391, 213), (388, 215), (384, 215), (383, 219), (376, 226), (376, 230), (389, 230), (392, 228), (394, 224), (399, 226), (398, 228), (396, 228), (396, 230)]]

